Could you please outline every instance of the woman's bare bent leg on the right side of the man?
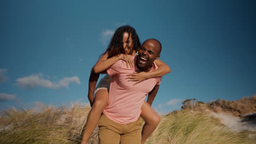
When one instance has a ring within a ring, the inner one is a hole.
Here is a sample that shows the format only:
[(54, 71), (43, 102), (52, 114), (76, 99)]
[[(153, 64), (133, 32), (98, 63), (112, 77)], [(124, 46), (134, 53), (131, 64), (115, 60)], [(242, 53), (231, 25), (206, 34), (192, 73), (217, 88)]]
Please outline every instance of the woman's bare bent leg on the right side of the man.
[(141, 132), (141, 143), (144, 143), (148, 139), (149, 135), (153, 133), (156, 127), (158, 127), (160, 116), (151, 108), (148, 103), (146, 103), (146, 101), (144, 101), (141, 107), (141, 116), (145, 121)]

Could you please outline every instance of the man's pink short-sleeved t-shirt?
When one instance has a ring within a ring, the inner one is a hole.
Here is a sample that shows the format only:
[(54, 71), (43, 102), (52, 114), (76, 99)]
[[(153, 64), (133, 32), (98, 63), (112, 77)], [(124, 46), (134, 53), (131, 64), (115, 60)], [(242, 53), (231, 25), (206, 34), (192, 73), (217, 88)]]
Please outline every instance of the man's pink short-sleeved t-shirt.
[[(158, 66), (154, 63), (155, 69)], [(108, 106), (103, 110), (103, 114), (112, 121), (120, 124), (135, 122), (141, 115), (141, 106), (147, 94), (156, 85), (160, 85), (162, 77), (155, 77), (139, 82), (133, 86), (133, 81), (125, 79), (127, 74), (137, 71), (136, 68), (126, 68), (126, 62), (118, 61), (113, 64), (107, 73), (112, 76)]]

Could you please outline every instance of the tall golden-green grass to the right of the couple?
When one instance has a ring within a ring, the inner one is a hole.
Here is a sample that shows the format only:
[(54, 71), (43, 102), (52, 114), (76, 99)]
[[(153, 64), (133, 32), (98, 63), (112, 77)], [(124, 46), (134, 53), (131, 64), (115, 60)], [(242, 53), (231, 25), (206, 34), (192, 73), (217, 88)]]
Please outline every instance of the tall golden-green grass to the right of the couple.
[[(250, 134), (254, 134), (253, 137), (250, 138)], [(231, 131), (207, 112), (181, 110), (162, 116), (146, 143), (256, 143), (256, 135), (249, 131)]]

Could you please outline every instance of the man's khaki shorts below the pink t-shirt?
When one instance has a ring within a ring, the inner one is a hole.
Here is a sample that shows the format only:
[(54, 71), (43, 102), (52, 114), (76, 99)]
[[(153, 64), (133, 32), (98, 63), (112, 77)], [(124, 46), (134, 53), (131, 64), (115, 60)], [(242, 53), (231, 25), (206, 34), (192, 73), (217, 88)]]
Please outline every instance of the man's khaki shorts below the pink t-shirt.
[(130, 124), (120, 124), (105, 115), (98, 123), (100, 144), (141, 144), (142, 118)]

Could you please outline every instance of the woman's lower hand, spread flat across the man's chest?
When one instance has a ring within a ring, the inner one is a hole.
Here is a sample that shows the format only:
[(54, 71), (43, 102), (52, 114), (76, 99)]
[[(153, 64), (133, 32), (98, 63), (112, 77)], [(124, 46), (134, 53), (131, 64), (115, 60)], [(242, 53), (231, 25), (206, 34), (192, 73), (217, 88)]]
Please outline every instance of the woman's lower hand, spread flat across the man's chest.
[(142, 82), (144, 80), (147, 80), (149, 78), (149, 75), (147, 72), (144, 72), (144, 71), (139, 71), (139, 72), (133, 72), (133, 74), (128, 74), (126, 79), (128, 79), (128, 81), (136, 81), (134, 85), (136, 85), (137, 83), (139, 82)]

